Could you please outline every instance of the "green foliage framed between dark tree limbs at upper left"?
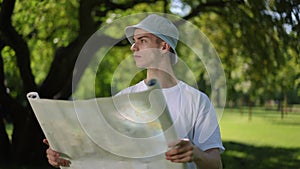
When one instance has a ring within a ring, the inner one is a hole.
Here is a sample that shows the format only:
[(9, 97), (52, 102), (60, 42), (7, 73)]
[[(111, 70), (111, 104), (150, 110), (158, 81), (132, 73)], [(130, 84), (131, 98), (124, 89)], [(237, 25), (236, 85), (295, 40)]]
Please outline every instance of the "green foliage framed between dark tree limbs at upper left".
[(45, 79), (55, 50), (78, 35), (76, 0), (18, 1), (12, 24), (27, 41), (31, 68), (37, 84)]

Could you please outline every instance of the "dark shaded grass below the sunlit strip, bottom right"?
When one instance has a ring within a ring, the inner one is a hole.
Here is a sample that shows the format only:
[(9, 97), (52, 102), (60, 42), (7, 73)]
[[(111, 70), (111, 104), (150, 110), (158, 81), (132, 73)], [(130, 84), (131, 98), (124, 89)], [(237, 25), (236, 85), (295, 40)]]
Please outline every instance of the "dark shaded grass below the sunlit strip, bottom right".
[(255, 147), (237, 142), (223, 142), (224, 169), (299, 169), (300, 148)]

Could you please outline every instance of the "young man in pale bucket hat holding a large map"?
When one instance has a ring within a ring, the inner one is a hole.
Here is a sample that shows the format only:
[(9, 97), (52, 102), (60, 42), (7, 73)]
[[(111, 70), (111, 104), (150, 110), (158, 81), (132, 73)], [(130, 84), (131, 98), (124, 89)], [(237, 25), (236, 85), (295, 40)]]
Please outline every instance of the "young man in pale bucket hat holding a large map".
[[(147, 69), (147, 77), (119, 94), (147, 90), (151, 79), (159, 81), (175, 129), (181, 139), (165, 153), (166, 160), (188, 163), (189, 168), (222, 168), (220, 152), (224, 151), (215, 111), (208, 97), (178, 80), (173, 72), (178, 56), (176, 45), (179, 33), (168, 19), (151, 14), (139, 24), (126, 28), (126, 36), (139, 68)], [(206, 133), (206, 134), (203, 134)], [(208, 134), (207, 134), (208, 133)], [(47, 140), (44, 140), (47, 144)], [(49, 163), (68, 166), (59, 153), (47, 150)], [(197, 166), (197, 167), (196, 167)]]

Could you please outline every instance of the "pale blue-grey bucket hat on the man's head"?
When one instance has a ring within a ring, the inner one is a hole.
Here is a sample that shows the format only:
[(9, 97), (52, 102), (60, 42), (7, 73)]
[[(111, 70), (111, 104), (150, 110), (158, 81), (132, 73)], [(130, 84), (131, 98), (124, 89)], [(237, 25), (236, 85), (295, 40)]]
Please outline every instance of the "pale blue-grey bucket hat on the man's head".
[(178, 56), (175, 48), (178, 42), (179, 33), (176, 26), (170, 20), (156, 14), (151, 14), (140, 23), (126, 27), (126, 37), (131, 44), (134, 43), (131, 37), (134, 35), (134, 31), (137, 28), (148, 31), (167, 42), (175, 52), (175, 54), (171, 57), (171, 63), (177, 63)]

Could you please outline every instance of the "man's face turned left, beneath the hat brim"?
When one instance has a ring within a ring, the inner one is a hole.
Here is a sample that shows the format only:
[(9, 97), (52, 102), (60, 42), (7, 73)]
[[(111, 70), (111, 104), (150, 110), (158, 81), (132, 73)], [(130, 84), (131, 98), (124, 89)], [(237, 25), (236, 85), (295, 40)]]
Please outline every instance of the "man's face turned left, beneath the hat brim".
[(134, 44), (130, 49), (133, 52), (137, 67), (155, 68), (162, 59), (160, 48), (163, 41), (142, 29), (135, 30), (133, 40)]

